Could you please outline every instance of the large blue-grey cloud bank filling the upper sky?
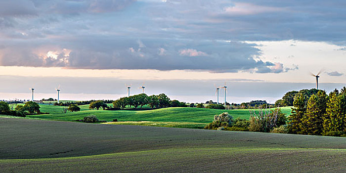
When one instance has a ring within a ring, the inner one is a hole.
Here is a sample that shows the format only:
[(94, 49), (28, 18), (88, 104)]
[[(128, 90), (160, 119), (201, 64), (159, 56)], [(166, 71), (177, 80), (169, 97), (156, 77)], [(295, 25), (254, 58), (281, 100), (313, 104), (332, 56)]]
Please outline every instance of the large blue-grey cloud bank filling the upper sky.
[(261, 61), (259, 49), (242, 41), (346, 42), (344, 1), (0, 3), (2, 66), (283, 73), (296, 68)]

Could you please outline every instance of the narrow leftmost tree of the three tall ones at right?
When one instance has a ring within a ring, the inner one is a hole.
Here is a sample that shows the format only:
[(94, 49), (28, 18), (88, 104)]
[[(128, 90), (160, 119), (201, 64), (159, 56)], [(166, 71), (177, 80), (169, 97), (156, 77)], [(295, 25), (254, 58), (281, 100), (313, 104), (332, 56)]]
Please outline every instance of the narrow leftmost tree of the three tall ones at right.
[(291, 115), (289, 116), (289, 126), (288, 129), (291, 133), (294, 134), (300, 134), (302, 129), (302, 118), (306, 112), (306, 106), (305, 106), (305, 100), (306, 96), (302, 93), (299, 93), (296, 95), (296, 98), (293, 102), (294, 108), (291, 108)]

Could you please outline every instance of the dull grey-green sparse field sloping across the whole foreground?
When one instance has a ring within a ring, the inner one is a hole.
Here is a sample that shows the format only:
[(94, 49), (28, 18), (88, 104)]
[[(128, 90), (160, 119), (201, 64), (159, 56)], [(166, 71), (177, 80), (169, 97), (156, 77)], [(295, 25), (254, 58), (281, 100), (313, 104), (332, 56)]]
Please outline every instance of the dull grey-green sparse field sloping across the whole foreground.
[(345, 172), (341, 137), (0, 118), (0, 170)]

